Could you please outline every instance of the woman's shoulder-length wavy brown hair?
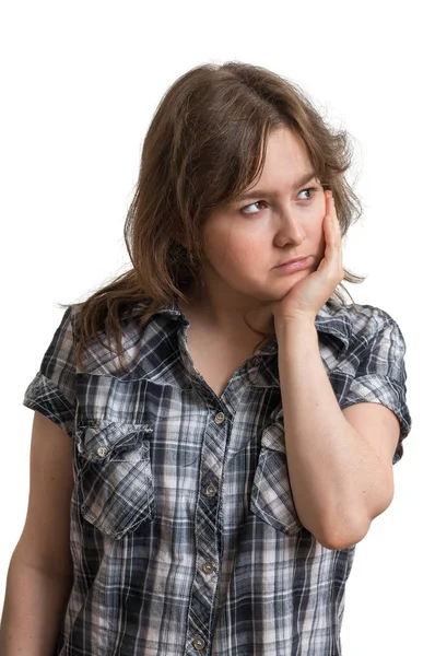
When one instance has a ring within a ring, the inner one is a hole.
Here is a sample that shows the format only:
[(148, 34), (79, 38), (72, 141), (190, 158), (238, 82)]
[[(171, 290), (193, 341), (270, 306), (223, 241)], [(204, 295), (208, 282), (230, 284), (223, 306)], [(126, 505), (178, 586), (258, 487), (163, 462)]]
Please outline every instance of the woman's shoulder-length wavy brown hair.
[[(74, 317), (81, 371), (83, 349), (93, 338), (110, 351), (115, 338), (125, 366), (120, 314), (126, 309), (145, 301), (143, 326), (174, 300), (188, 301), (189, 290), (201, 280), (204, 221), (261, 174), (268, 137), (281, 127), (303, 140), (324, 189), (332, 190), (342, 235), (358, 220), (362, 207), (344, 175), (352, 162), (349, 133), (328, 126), (298, 85), (238, 61), (189, 70), (164, 94), (143, 142), (124, 229), (132, 268), (73, 304), (80, 309)], [(360, 283), (365, 278), (344, 270), (344, 280)], [(352, 296), (338, 285), (333, 297), (344, 305), (339, 288)], [(270, 337), (259, 335), (263, 339), (257, 348)]]

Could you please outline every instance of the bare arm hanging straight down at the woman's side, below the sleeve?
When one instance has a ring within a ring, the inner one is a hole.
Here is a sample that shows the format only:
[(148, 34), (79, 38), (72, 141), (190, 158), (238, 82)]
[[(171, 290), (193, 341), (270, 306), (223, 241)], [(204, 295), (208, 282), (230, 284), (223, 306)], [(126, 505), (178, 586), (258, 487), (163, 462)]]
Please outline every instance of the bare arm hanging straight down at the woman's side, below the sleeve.
[(71, 437), (35, 412), (27, 516), (9, 566), (0, 656), (50, 656), (71, 589)]

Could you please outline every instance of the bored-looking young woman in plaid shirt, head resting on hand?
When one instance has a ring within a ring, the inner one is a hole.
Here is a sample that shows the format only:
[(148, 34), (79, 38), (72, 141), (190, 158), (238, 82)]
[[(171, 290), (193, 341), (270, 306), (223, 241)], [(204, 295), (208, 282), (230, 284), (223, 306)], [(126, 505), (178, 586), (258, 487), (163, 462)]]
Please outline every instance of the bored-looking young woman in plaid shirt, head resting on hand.
[[(405, 344), (345, 305), (345, 132), (289, 81), (165, 94), (132, 268), (71, 304), (28, 385), (2, 656), (338, 656), (355, 544), (393, 496)], [(72, 447), (72, 448), (71, 448)]]

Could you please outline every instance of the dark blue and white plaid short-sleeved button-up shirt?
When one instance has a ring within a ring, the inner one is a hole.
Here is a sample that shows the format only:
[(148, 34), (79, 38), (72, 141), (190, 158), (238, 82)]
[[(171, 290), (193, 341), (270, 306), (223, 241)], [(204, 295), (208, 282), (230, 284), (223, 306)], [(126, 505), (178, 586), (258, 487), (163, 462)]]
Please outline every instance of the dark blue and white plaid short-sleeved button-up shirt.
[[(328, 302), (319, 350), (341, 408), (383, 403), (411, 429), (405, 344), (384, 311)], [(74, 578), (62, 656), (339, 656), (355, 547), (329, 550), (297, 516), (289, 482), (278, 344), (217, 398), (174, 304), (124, 320), (128, 373), (97, 340), (74, 362), (64, 312), (24, 405), (72, 438)]]

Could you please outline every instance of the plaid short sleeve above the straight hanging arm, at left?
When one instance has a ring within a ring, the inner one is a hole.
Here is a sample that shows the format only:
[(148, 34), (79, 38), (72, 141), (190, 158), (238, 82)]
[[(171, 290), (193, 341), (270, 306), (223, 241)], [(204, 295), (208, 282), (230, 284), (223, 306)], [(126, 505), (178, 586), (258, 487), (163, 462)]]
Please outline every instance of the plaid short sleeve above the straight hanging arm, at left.
[(75, 340), (72, 306), (64, 312), (39, 371), (24, 393), (23, 405), (37, 410), (68, 435), (75, 422)]

